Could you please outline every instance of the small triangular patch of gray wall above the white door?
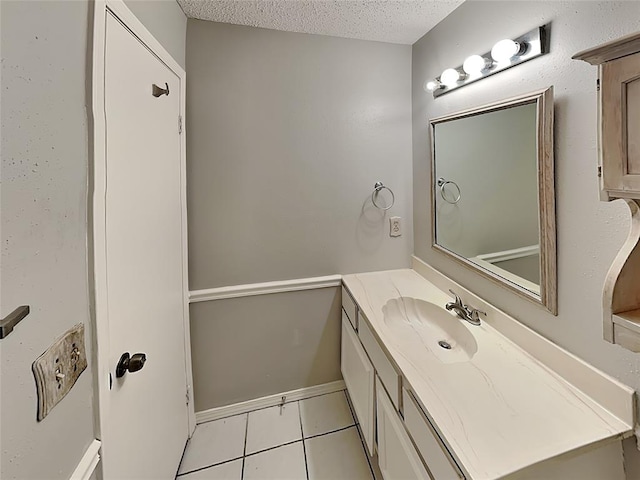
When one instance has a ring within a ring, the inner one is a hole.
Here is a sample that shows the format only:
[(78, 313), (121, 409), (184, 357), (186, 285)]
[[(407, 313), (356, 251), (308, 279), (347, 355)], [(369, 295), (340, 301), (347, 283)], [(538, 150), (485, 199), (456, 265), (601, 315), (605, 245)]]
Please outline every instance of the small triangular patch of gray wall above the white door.
[(185, 66), (187, 17), (176, 0), (124, 0), (173, 59)]

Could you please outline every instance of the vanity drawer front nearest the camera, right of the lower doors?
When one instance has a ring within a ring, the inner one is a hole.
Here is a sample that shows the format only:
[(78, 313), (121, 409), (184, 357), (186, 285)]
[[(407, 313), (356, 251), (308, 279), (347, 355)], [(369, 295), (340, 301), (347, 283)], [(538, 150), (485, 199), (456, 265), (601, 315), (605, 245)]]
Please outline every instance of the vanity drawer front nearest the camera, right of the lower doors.
[(434, 480), (464, 479), (464, 475), (435, 432), (413, 395), (402, 389), (404, 424)]

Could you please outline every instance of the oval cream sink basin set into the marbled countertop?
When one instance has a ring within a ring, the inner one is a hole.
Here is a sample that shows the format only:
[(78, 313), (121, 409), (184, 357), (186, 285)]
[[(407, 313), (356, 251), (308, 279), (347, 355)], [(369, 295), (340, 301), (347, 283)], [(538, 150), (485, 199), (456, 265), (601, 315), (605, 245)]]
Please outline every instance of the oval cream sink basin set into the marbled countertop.
[[(466, 322), (444, 307), (412, 297), (389, 300), (382, 307), (387, 334), (411, 352), (426, 348), (442, 363), (469, 361), (478, 344)], [(416, 351), (419, 355), (419, 351)]]

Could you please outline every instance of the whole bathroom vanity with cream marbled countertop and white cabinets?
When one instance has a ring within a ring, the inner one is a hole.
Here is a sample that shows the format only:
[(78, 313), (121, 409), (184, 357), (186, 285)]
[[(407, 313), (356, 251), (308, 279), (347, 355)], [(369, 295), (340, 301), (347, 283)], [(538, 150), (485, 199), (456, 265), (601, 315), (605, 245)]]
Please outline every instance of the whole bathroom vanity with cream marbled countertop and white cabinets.
[(343, 277), (342, 373), (383, 478), (623, 480), (634, 391), (413, 266)]

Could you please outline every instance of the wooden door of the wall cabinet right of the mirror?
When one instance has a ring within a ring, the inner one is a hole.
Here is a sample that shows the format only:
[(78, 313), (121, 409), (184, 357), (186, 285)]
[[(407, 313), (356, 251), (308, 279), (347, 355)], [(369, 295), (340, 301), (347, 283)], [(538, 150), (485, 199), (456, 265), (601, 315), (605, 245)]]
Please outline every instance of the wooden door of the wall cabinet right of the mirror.
[(640, 194), (640, 53), (602, 65), (602, 174), (606, 190)]

